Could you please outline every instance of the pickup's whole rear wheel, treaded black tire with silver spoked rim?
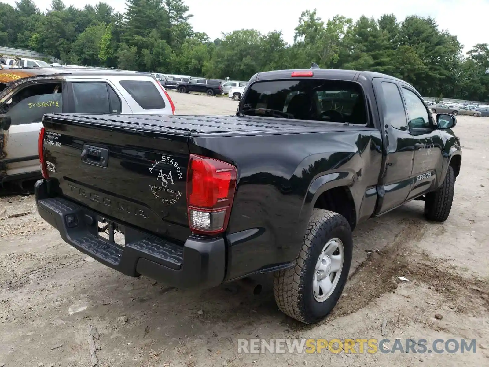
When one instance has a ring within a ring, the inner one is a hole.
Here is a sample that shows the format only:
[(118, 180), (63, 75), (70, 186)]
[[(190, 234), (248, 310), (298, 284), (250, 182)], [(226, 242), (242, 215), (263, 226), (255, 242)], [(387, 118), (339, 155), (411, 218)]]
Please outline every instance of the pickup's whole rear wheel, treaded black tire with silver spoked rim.
[(326, 317), (345, 287), (352, 252), (352, 230), (346, 218), (313, 209), (293, 266), (274, 274), (273, 293), (279, 309), (304, 323)]

